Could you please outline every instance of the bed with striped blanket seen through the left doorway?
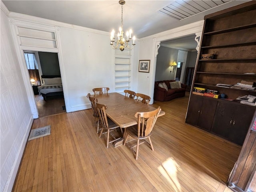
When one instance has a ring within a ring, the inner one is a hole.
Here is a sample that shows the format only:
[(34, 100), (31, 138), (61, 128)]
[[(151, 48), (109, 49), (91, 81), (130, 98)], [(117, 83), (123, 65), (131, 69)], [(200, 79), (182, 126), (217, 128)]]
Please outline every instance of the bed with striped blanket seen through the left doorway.
[(39, 95), (47, 97), (63, 95), (62, 81), (60, 75), (42, 75), (42, 85), (38, 87)]

